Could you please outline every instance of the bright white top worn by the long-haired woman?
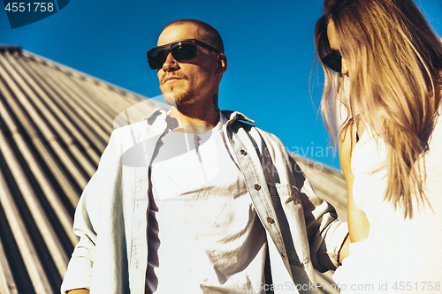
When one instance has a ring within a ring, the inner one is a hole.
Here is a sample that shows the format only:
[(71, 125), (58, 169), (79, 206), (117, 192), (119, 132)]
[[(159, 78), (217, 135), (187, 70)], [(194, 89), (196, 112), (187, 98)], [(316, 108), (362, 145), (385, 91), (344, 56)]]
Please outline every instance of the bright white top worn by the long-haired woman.
[[(419, 163), (426, 170), (425, 195), (431, 207), (414, 203), (413, 218), (384, 200), (385, 142), (367, 128), (354, 147), (354, 202), (370, 222), (369, 237), (351, 245), (333, 278), (342, 293), (440, 293), (442, 291), (442, 118)], [(379, 167), (380, 170), (374, 172)], [(358, 288), (358, 290), (351, 290)], [(365, 287), (363, 285), (368, 285)], [(370, 285), (372, 286), (370, 290)], [(357, 287), (356, 287), (357, 286)], [(347, 289), (347, 291), (345, 291)]]

